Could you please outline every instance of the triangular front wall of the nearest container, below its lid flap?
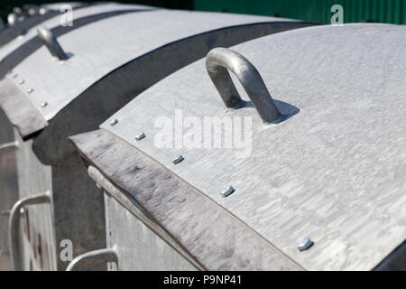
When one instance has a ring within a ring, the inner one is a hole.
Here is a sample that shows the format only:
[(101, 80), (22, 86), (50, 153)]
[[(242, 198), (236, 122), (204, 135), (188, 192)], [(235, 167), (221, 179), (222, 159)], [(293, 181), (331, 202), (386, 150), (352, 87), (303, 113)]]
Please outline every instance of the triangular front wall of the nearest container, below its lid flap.
[[(120, 271), (192, 271), (196, 270), (143, 222), (118, 201), (105, 194), (106, 239), (116, 247)], [(111, 264), (110, 270), (117, 266)]]

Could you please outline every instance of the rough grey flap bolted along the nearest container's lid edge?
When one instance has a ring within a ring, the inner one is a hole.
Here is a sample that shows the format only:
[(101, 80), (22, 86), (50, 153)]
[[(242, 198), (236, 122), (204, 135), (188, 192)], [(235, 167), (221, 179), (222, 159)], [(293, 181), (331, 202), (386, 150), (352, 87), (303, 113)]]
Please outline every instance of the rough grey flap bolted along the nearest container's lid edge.
[[(111, 201), (118, 201), (126, 215), (134, 214), (198, 269), (302, 269), (235, 216), (131, 144), (103, 130), (71, 136), (70, 140), (91, 163), (88, 174), (115, 199)], [(137, 266), (132, 265), (134, 258), (125, 257), (133, 256), (127, 252), (138, 242), (130, 237), (137, 233), (126, 232), (123, 222), (116, 219), (106, 227), (115, 232), (111, 236), (118, 234), (109, 247), (119, 245), (123, 265)], [(170, 264), (171, 260), (162, 262)]]

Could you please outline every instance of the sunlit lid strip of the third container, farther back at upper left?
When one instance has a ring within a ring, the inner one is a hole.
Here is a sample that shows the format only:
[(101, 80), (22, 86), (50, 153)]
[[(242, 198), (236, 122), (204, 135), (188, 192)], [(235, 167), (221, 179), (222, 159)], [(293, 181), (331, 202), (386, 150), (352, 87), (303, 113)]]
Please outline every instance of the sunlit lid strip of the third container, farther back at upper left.
[[(110, 12), (110, 11), (125, 11), (125, 10), (134, 10), (134, 9), (147, 10), (147, 9), (153, 9), (153, 8), (149, 7), (149, 6), (143, 6), (143, 5), (120, 5), (120, 4), (92, 5), (92, 6), (88, 6), (88, 7), (84, 7), (84, 8), (72, 11), (72, 15), (73, 15), (73, 20), (75, 22), (75, 20), (78, 20), (81, 17), (86, 17), (86, 16), (90, 16), (90, 15), (103, 14), (103, 13)], [(29, 42), (32, 38), (36, 37), (38, 26), (43, 25), (49, 29), (59, 26), (62, 15), (63, 14), (57, 15), (47, 21), (39, 23), (38, 25), (35, 25), (30, 30), (28, 30), (27, 33), (25, 33), (23, 35), (23, 37), (16, 38), (12, 42), (6, 43), (0, 49), (0, 60), (3, 60), (8, 54), (13, 52), (15, 49), (17, 49), (24, 43)]]

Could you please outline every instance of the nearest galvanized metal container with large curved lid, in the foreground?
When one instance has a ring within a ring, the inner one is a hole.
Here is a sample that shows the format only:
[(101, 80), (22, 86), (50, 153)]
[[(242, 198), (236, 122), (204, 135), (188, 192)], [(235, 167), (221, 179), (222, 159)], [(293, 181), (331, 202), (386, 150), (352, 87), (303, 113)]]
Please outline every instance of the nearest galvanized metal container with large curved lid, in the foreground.
[(131, 255), (138, 218), (196, 268), (405, 270), (405, 33), (330, 25), (217, 48), (70, 137), (106, 193), (106, 260), (139, 268), (156, 249)]

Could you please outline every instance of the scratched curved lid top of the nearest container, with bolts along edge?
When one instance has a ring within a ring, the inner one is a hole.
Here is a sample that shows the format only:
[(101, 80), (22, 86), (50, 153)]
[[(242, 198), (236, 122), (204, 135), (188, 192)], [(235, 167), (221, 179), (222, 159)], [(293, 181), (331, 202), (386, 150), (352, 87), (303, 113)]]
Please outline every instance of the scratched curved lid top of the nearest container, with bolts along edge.
[[(277, 125), (263, 126), (250, 106), (227, 111), (201, 60), (143, 92), (101, 127), (204, 192), (305, 269), (369, 270), (406, 238), (405, 35), (405, 26), (348, 24), (236, 45), (281, 111), (300, 109)], [(252, 117), (252, 154), (158, 148), (155, 121), (174, 122), (175, 109), (200, 121)], [(110, 126), (114, 118), (118, 124)], [(147, 137), (136, 142), (141, 131)], [(176, 154), (185, 160), (174, 165)], [(222, 198), (226, 185), (235, 192)], [(304, 236), (315, 245), (299, 252), (295, 244)]]

